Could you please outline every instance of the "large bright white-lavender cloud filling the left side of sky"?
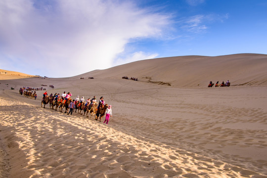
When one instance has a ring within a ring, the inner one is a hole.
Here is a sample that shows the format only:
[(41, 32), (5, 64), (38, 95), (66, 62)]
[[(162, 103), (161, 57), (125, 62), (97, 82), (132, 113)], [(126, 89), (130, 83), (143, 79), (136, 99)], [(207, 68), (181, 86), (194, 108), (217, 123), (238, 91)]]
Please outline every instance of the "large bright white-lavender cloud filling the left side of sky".
[(0, 68), (48, 77), (109, 68), (131, 39), (161, 36), (169, 23), (129, 1), (1, 0)]

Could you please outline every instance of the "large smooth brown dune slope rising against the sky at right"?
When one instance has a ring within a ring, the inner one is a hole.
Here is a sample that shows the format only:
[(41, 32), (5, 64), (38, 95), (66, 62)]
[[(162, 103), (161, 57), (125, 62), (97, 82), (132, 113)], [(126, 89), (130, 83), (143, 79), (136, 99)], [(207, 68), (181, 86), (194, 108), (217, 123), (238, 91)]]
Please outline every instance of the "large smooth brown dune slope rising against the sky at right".
[[(92, 71), (81, 77), (135, 77), (139, 81), (174, 87), (207, 87), (210, 81), (234, 86), (267, 85), (266, 54), (225, 56), (178, 56), (142, 60), (106, 70)], [(80, 77), (79, 76), (79, 77)]]

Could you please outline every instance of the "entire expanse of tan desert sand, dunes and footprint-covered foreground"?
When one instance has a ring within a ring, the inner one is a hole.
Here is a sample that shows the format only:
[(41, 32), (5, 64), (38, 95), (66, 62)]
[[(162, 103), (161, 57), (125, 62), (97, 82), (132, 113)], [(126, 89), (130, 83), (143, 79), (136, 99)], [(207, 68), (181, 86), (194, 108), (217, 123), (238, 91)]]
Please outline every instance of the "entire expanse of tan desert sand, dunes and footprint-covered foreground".
[[(0, 177), (267, 178), (266, 68), (267, 55), (235, 54), (150, 59), (67, 78), (0, 75)], [(227, 80), (230, 87), (207, 87)], [(42, 85), (49, 94), (104, 96), (113, 117), (106, 125), (43, 108), (43, 90), (36, 100), (19, 94)]]

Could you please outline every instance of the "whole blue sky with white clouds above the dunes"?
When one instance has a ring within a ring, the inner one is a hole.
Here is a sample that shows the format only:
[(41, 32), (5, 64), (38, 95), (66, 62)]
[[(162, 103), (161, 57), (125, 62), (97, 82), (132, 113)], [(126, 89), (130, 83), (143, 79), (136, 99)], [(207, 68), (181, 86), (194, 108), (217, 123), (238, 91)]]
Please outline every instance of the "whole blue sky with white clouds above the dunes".
[(0, 0), (0, 69), (72, 77), (159, 57), (267, 54), (267, 0)]

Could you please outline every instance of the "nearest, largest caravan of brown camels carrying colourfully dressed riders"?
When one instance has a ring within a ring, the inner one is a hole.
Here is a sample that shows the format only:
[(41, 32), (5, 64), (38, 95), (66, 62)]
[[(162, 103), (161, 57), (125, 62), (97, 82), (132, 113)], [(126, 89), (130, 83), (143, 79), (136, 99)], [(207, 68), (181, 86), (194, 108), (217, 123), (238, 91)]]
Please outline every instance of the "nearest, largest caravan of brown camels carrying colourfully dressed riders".
[[(95, 117), (95, 120), (97, 121), (99, 119), (99, 122), (101, 122), (101, 118), (106, 114), (105, 112), (106, 112), (106, 109), (108, 108), (108, 104), (105, 104), (104, 100), (101, 100), (101, 98), (103, 97), (100, 98), (100, 101), (99, 101), (100, 104), (99, 104), (98, 102), (96, 102), (95, 97), (85, 102), (84, 100), (79, 100), (77, 98), (76, 100), (71, 99), (70, 92), (68, 92), (68, 94), (66, 94), (65, 97), (64, 97), (64, 94), (65, 94), (65, 91), (62, 94), (62, 96), (60, 96), (57, 93), (54, 94), (54, 96), (52, 94), (48, 96), (47, 92), (44, 93), (44, 97), (42, 98), (42, 102), (41, 102), (41, 107), (43, 107), (44, 105), (44, 108), (45, 108), (45, 105), (49, 104), (50, 109), (53, 109), (55, 111), (59, 109), (59, 111), (63, 113), (63, 110), (64, 110), (65, 111), (64, 113), (67, 113), (67, 115), (69, 115), (70, 113), (72, 114), (72, 111), (74, 111), (88, 118)], [(73, 108), (70, 108), (71, 102), (73, 102), (72, 103)]]

